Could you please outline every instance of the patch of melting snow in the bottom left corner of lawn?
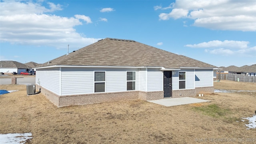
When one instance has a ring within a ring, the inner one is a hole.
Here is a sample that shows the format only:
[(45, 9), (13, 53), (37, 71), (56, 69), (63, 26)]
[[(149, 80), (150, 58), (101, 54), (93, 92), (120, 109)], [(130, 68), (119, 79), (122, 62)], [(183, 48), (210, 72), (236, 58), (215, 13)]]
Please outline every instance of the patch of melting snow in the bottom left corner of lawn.
[(25, 144), (26, 140), (30, 138), (32, 138), (31, 133), (0, 134), (2, 144)]

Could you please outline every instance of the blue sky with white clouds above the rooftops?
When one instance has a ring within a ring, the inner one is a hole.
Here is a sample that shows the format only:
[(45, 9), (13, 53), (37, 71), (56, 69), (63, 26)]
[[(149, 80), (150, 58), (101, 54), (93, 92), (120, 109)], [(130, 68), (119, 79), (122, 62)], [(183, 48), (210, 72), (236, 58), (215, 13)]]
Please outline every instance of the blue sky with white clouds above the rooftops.
[(44, 63), (103, 38), (214, 66), (256, 64), (255, 0), (1, 0), (0, 60)]

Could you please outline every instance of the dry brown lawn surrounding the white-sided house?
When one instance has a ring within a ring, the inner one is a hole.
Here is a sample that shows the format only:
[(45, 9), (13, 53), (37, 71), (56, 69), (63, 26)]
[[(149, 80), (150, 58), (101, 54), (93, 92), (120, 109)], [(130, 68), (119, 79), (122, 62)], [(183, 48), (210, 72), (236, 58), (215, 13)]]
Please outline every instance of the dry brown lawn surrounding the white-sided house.
[[(214, 87), (256, 90), (254, 83), (225, 80), (214, 82)], [(19, 90), (0, 96), (0, 133), (32, 132), (27, 143), (256, 143), (256, 129), (246, 129), (246, 121), (241, 121), (253, 116), (256, 92), (204, 94), (197, 98), (211, 102), (171, 107), (127, 100), (57, 108), (42, 94), (27, 96), (25, 85), (0, 89)], [(204, 111), (207, 108), (210, 111)]]

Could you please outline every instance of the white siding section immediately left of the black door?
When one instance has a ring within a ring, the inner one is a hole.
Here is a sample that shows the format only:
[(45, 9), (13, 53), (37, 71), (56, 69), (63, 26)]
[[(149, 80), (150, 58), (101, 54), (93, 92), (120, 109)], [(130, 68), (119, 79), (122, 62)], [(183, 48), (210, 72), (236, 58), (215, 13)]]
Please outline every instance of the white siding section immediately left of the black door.
[(161, 91), (164, 89), (164, 75), (159, 68), (148, 68), (147, 91)]

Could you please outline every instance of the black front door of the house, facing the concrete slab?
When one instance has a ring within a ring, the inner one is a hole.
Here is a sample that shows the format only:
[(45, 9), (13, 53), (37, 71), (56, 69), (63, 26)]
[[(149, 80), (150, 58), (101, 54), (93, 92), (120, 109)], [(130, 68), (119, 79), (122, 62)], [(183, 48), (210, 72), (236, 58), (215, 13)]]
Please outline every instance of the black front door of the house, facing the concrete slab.
[(172, 97), (172, 71), (164, 71), (164, 98)]

